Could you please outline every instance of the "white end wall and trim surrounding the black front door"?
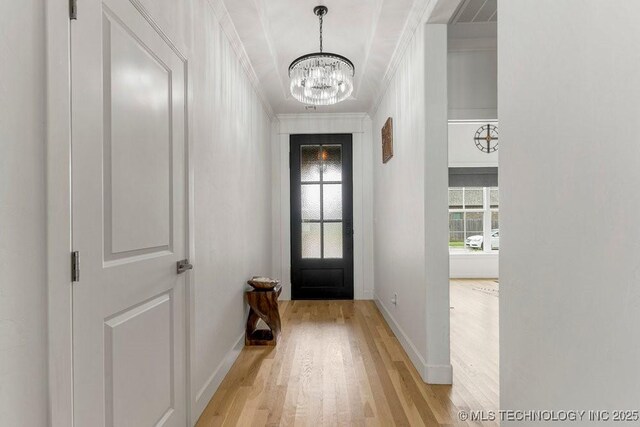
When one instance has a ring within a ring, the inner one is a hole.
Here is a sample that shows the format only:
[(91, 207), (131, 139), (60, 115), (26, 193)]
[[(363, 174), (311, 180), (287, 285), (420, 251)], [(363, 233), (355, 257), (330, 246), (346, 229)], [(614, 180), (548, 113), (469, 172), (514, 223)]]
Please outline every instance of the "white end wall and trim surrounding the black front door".
[(366, 114), (284, 114), (272, 129), (273, 271), (281, 299), (291, 298), (289, 139), (292, 134), (353, 135), (354, 298), (373, 299), (373, 171), (371, 119)]

